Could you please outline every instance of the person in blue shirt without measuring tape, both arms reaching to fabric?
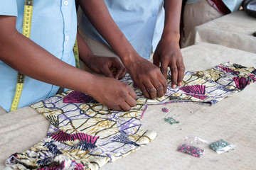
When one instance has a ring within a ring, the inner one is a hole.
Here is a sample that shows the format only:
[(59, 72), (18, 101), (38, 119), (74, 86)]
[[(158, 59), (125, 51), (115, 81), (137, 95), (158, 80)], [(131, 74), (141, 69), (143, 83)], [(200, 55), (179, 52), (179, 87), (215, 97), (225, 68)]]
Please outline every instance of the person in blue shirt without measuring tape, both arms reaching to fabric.
[[(146, 98), (166, 93), (167, 69), (171, 69), (171, 86), (182, 85), (185, 67), (178, 45), (182, 1), (177, 0), (80, 0), (84, 14), (79, 28), (93, 40), (109, 45)], [(100, 54), (95, 47), (95, 54)], [(153, 63), (149, 62), (154, 52)], [(112, 52), (112, 53), (111, 53)], [(159, 67), (161, 69), (159, 69)]]

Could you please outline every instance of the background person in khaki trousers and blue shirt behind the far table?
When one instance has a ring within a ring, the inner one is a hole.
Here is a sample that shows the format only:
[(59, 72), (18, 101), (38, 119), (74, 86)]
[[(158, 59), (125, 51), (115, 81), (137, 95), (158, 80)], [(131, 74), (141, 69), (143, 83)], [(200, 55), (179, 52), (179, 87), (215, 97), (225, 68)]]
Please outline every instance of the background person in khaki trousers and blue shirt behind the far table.
[(238, 11), (242, 0), (187, 0), (183, 12), (184, 41), (196, 26)]

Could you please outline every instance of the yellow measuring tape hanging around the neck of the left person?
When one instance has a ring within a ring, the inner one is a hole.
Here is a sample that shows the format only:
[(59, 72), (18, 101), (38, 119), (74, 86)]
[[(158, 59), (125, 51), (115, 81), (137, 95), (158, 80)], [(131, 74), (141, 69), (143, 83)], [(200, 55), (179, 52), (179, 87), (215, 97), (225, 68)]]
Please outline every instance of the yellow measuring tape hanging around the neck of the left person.
[[(33, 14), (33, 0), (25, 0), (22, 34), (27, 38), (30, 38), (30, 35), (31, 35), (32, 14)], [(79, 66), (79, 53), (78, 53), (77, 40), (75, 40), (73, 51), (75, 55), (75, 66), (79, 68), (80, 66)], [(15, 111), (18, 108), (18, 102), (20, 101), (20, 98), (21, 98), (21, 92), (23, 89), (24, 80), (25, 80), (25, 75), (18, 72), (16, 91), (14, 95), (14, 100), (11, 103), (10, 111)]]

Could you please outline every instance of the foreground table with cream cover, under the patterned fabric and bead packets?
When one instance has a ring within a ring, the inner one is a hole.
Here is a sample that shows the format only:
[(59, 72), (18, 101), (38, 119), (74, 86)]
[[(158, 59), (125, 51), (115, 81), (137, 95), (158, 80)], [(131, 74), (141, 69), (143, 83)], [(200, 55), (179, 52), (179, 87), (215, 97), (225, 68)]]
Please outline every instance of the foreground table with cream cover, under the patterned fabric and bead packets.
[[(205, 70), (224, 62), (256, 67), (256, 54), (221, 45), (199, 43), (181, 50), (186, 70)], [(161, 108), (169, 108), (163, 113)], [(128, 169), (255, 169), (256, 167), (256, 83), (213, 106), (196, 103), (171, 103), (149, 106), (142, 127), (158, 133), (155, 140), (127, 157), (106, 164), (102, 170)], [(164, 118), (180, 123), (170, 125)], [(29, 149), (46, 136), (49, 123), (32, 108), (20, 108), (0, 115), (0, 169), (15, 152)], [(215, 142), (236, 144), (235, 150), (216, 154), (206, 149), (203, 157), (177, 152), (186, 135)]]

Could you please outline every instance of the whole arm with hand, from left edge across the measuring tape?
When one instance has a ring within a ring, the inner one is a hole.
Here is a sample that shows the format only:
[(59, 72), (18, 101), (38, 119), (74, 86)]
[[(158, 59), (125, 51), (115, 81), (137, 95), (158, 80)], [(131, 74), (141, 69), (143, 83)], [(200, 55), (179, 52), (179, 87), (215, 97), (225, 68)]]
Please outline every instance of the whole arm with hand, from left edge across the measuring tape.
[[(79, 46), (83, 48), (81, 44)], [(81, 55), (82, 58), (91, 57), (92, 52), (84, 50)], [(96, 77), (62, 62), (18, 33), (14, 16), (0, 16), (0, 60), (28, 77), (81, 91), (117, 111), (129, 111), (136, 105), (137, 95), (127, 84), (108, 77)]]

